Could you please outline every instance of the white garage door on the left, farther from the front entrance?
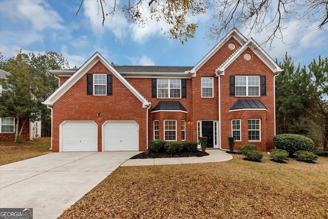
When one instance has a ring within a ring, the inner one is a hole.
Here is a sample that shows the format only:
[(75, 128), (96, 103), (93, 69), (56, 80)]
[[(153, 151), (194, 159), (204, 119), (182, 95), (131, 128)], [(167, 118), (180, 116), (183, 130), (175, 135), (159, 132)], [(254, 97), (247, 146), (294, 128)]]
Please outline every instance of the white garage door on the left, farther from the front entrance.
[(63, 151), (98, 151), (97, 124), (93, 121), (69, 121), (62, 129)]

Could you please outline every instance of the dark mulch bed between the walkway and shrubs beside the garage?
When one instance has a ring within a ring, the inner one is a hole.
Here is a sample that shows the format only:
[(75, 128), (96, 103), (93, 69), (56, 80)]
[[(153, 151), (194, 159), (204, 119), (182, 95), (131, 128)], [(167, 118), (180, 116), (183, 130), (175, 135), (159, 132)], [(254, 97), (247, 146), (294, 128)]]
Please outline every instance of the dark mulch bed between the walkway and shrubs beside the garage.
[(146, 155), (145, 152), (139, 153), (130, 159), (145, 159), (145, 158), (165, 158), (165, 157), (190, 157), (190, 156), (207, 156), (209, 153), (202, 151), (189, 151), (189, 152), (180, 152), (177, 154), (169, 154), (169, 153), (156, 153), (153, 151), (148, 151)]

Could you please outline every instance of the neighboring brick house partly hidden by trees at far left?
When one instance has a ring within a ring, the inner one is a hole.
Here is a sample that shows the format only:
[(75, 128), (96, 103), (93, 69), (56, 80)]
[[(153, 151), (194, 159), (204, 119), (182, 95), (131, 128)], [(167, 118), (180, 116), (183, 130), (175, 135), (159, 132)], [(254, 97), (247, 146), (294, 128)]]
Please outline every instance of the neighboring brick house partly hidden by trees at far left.
[[(10, 74), (7, 71), (0, 69), (0, 78), (6, 78)], [(0, 95), (3, 88), (0, 85)], [(23, 123), (20, 119), (20, 125)], [(35, 137), (41, 136), (41, 121), (29, 122), (24, 125), (22, 131), (24, 140), (33, 140)], [(0, 141), (14, 141), (15, 140), (15, 119), (13, 117), (0, 117)]]

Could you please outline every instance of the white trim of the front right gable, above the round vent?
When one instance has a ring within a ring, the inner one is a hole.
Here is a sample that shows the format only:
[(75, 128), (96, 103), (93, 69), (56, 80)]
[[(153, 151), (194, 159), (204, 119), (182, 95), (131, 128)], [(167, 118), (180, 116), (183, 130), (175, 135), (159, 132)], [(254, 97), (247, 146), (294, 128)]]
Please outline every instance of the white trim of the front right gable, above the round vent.
[(279, 65), (265, 52), (255, 41), (253, 38), (250, 38), (244, 45), (239, 47), (224, 63), (220, 65), (215, 71), (216, 75), (224, 74), (224, 70), (226, 70), (235, 60), (241, 55), (245, 49), (250, 48), (257, 57), (261, 59), (261, 61), (267, 65), (274, 74), (278, 74), (282, 71)]

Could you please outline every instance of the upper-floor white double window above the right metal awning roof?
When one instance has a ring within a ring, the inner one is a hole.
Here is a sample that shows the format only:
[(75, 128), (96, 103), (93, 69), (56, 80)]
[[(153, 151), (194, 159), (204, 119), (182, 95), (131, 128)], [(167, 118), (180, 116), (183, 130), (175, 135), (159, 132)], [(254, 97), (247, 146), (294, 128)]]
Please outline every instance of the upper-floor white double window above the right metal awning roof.
[(259, 96), (260, 76), (258, 75), (236, 75), (236, 96)]

